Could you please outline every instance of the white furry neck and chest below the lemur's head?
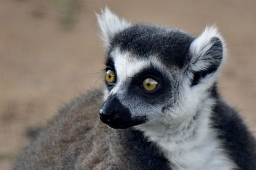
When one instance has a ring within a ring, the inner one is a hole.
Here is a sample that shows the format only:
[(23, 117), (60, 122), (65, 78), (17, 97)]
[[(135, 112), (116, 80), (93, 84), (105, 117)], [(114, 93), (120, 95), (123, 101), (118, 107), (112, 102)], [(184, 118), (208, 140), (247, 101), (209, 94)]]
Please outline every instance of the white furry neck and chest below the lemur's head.
[(172, 169), (231, 169), (234, 163), (221, 149), (217, 132), (211, 127), (214, 104), (214, 99), (208, 97), (195, 113), (165, 119), (169, 121), (156, 120), (137, 128), (159, 146)]

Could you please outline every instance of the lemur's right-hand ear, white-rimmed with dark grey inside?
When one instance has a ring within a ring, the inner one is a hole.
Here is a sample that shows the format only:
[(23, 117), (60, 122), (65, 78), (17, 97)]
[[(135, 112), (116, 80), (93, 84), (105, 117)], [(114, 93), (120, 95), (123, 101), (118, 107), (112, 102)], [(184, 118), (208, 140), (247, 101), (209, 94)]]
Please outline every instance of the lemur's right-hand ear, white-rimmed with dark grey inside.
[(207, 74), (215, 73), (225, 57), (225, 43), (216, 27), (206, 27), (190, 45), (189, 69), (194, 74), (191, 85), (196, 85)]

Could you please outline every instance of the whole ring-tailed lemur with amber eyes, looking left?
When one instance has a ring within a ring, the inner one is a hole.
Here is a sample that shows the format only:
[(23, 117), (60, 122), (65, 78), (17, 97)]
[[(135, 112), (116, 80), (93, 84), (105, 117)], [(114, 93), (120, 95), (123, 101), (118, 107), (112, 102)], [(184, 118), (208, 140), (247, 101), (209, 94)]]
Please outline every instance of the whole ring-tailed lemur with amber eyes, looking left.
[(104, 88), (60, 110), (14, 169), (256, 169), (255, 138), (218, 93), (216, 27), (195, 37), (108, 8), (97, 18)]

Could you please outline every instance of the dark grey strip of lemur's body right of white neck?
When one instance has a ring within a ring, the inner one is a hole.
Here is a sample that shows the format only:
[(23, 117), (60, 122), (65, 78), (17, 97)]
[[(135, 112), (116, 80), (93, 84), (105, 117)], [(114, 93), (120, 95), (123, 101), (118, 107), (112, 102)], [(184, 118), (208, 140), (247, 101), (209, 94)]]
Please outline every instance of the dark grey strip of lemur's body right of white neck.
[(256, 140), (239, 113), (218, 96), (211, 120), (232, 160), (241, 169), (256, 169)]

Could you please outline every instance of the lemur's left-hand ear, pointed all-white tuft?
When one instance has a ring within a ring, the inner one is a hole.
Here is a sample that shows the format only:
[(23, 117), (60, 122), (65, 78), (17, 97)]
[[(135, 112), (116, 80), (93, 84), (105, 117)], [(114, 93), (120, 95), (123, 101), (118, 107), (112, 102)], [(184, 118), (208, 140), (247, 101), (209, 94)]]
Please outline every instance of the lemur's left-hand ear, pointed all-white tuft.
[(100, 14), (96, 15), (101, 30), (100, 38), (106, 48), (108, 48), (111, 38), (116, 32), (122, 31), (131, 25), (126, 20), (120, 19), (115, 13), (112, 13), (108, 7), (105, 7)]

